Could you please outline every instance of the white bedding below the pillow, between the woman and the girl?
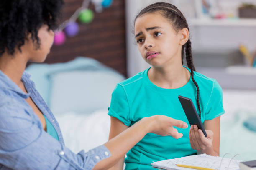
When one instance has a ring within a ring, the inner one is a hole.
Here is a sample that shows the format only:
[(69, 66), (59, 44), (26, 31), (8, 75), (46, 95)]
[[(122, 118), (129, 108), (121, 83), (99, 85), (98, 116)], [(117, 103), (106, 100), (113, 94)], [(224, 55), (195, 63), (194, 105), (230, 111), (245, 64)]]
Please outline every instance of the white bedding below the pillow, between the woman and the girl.
[(110, 116), (108, 110), (97, 110), (92, 114), (67, 112), (57, 115), (65, 145), (73, 152), (88, 151), (108, 141)]

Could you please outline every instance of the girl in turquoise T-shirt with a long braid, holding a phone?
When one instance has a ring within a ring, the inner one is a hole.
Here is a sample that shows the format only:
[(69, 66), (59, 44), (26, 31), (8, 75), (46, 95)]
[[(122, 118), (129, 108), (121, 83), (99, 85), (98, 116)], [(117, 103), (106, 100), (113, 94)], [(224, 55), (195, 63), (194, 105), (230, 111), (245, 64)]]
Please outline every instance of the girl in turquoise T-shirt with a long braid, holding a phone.
[[(115, 87), (108, 112), (109, 138), (156, 114), (188, 123), (179, 95), (192, 99), (208, 136), (196, 125), (178, 128), (184, 134), (180, 139), (147, 134), (127, 153), (125, 169), (148, 169), (152, 161), (187, 155), (219, 155), (220, 115), (225, 112), (222, 90), (216, 80), (195, 72), (189, 28), (182, 13), (169, 3), (149, 5), (135, 18), (134, 33), (141, 56), (152, 67)], [(188, 67), (183, 65), (184, 55)], [(123, 169), (123, 160), (113, 169)]]

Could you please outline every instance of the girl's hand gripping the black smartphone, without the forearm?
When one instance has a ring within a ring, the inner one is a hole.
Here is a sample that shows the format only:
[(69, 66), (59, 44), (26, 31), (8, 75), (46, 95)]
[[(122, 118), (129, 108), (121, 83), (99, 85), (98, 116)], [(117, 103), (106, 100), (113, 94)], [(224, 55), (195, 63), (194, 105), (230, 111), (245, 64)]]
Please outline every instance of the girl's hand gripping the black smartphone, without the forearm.
[(211, 130), (205, 130), (207, 137), (201, 129), (197, 128), (197, 125), (192, 125), (189, 130), (189, 141), (191, 148), (195, 150), (206, 150), (212, 148), (213, 132)]

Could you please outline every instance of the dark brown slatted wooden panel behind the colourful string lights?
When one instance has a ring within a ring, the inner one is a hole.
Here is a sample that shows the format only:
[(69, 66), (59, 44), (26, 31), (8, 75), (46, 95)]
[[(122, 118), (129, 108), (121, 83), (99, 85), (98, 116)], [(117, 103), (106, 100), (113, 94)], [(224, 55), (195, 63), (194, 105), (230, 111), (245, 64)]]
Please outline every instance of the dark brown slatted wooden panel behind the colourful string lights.
[[(125, 0), (113, 0), (109, 8), (96, 13), (89, 24), (79, 23), (75, 37), (67, 37), (61, 46), (51, 48), (46, 63), (67, 62), (77, 56), (91, 57), (127, 76), (125, 51)], [(62, 20), (67, 20), (81, 7), (83, 0), (64, 0)]]

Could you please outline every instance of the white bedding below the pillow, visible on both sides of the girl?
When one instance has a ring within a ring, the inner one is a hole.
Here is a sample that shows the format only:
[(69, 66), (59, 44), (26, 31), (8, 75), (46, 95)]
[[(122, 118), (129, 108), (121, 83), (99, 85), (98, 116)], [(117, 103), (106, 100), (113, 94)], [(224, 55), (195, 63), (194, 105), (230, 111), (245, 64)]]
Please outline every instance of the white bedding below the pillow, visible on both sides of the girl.
[[(221, 117), (220, 156), (240, 153), (240, 160), (256, 159), (256, 132), (242, 125), (246, 117), (256, 115), (256, 91), (224, 90), (223, 105), (226, 113)], [(56, 118), (66, 145), (76, 153), (108, 141), (110, 117), (107, 109), (84, 115), (67, 112)]]

